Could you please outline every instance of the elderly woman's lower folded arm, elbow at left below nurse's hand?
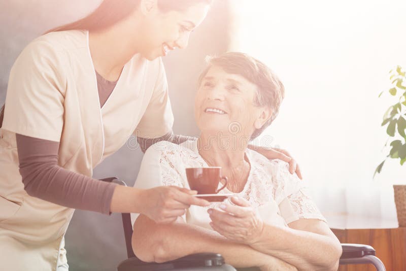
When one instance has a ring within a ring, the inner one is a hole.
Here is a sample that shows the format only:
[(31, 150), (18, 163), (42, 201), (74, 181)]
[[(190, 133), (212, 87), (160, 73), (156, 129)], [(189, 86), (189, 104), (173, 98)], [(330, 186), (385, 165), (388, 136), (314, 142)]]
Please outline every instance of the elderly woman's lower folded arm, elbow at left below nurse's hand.
[(272, 266), (296, 270), (294, 266), (248, 245), (230, 242), (213, 230), (186, 224), (182, 218), (177, 223), (157, 224), (140, 215), (134, 223), (132, 247), (134, 254), (147, 262), (164, 262), (194, 253), (211, 252), (221, 254), (234, 267), (258, 266), (267, 270)]

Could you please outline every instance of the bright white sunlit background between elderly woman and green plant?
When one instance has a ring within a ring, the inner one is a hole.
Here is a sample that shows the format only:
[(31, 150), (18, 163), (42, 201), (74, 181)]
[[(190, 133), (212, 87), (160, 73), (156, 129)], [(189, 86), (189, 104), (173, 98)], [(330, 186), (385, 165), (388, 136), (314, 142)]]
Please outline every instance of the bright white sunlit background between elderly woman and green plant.
[(406, 1), (232, 0), (231, 8), (230, 50), (264, 61), (286, 89), (258, 143), (290, 151), (324, 215), (396, 221), (392, 184), (406, 184), (406, 164), (388, 159), (373, 176), (391, 148), (383, 115), (399, 99), (388, 93), (389, 71), (406, 69)]

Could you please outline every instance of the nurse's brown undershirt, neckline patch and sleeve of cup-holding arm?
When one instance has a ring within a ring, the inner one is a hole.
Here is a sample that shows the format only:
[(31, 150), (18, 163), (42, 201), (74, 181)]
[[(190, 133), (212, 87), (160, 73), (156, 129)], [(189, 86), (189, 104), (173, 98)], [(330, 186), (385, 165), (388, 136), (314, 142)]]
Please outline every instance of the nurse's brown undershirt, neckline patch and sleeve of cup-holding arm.
[[(116, 82), (96, 72), (100, 106)], [(69, 208), (110, 214), (115, 184), (75, 173), (58, 165), (59, 142), (16, 134), (20, 174), (24, 189), (35, 196)]]

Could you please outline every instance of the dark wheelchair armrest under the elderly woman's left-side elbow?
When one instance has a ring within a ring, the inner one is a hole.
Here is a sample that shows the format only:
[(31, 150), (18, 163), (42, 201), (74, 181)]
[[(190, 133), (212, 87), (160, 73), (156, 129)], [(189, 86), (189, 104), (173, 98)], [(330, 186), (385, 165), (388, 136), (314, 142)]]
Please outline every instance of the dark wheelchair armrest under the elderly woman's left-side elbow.
[[(196, 253), (187, 255), (185, 257), (166, 261), (162, 263), (144, 262), (137, 257), (129, 258), (122, 261), (118, 267), (118, 271), (157, 271), (157, 270), (170, 270), (174, 268), (186, 267), (209, 267), (220, 266), (224, 264), (224, 258), (217, 253)], [(138, 267), (138, 268), (137, 268)]]

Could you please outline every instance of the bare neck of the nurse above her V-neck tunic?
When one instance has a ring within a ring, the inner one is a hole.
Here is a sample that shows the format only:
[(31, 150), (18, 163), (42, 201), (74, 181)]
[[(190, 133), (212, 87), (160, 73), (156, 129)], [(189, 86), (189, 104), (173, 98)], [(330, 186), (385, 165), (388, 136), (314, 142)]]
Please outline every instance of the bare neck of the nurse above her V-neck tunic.
[[(89, 31), (89, 49), (94, 69), (108, 81), (117, 81), (124, 65), (138, 53), (134, 44), (140, 44), (133, 29), (139, 29), (141, 21), (121, 20), (113, 26)], [(131, 25), (131, 28), (129, 27)]]

